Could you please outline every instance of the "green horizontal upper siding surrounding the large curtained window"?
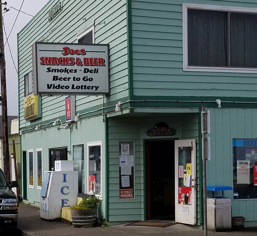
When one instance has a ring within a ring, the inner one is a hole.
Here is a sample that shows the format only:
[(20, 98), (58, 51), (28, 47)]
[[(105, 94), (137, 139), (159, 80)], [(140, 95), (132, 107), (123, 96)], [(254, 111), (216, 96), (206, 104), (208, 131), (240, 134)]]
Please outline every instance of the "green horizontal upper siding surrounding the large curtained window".
[(134, 96), (256, 97), (256, 74), (183, 71), (182, 3), (257, 7), (244, 0), (132, 0)]

